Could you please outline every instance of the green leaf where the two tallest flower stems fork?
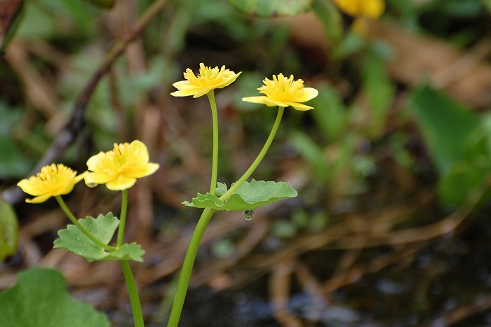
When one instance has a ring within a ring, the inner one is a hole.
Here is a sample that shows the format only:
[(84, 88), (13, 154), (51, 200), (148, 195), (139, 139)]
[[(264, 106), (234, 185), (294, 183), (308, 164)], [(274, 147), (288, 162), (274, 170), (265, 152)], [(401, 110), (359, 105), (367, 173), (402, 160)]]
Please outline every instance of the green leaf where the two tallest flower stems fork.
[[(234, 184), (232, 184), (234, 185)], [(217, 195), (223, 195), (227, 191), (227, 186), (217, 183)], [(229, 197), (229, 200), (222, 202), (216, 195), (206, 193), (194, 197), (191, 202), (184, 201), (182, 204), (195, 208), (211, 208), (215, 210), (253, 210), (262, 207), (264, 204), (278, 200), (296, 197), (297, 191), (288, 186), (285, 182), (256, 181), (245, 182)]]

